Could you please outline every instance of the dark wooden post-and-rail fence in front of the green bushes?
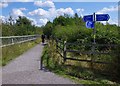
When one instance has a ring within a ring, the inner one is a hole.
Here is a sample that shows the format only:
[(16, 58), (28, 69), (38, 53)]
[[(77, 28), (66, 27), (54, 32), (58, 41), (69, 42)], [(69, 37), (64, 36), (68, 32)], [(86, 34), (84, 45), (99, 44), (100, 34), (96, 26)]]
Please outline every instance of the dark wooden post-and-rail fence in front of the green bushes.
[[(84, 46), (91, 46), (90, 51), (80, 51), (80, 50), (72, 50), (72, 49), (67, 49), (68, 45), (84, 45)], [(63, 48), (61, 48), (61, 45)], [(82, 62), (93, 62), (93, 63), (100, 63), (100, 64), (113, 64), (112, 62), (105, 62), (105, 61), (94, 61), (92, 58), (91, 60), (84, 60), (84, 59), (76, 59), (73, 57), (67, 57), (67, 52), (73, 52), (73, 53), (81, 53), (81, 54), (87, 54), (87, 55), (100, 55), (100, 54), (106, 54), (106, 55), (112, 55), (113, 52), (104, 52), (104, 51), (99, 51), (97, 52), (95, 49), (92, 50), (92, 47), (117, 47), (118, 45), (114, 44), (80, 44), (80, 43), (67, 43), (66, 41), (61, 42), (60, 40), (56, 39), (56, 48), (57, 52), (60, 54), (61, 57), (63, 57), (64, 62), (66, 60), (75, 60), (75, 61), (82, 61)], [(60, 52), (61, 51), (61, 52)]]

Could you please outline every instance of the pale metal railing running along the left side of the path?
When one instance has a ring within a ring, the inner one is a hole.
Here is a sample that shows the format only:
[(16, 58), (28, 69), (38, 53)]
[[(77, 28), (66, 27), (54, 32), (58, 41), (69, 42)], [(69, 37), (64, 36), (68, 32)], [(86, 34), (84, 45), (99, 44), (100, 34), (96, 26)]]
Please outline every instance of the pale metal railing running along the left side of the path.
[(39, 35), (0, 37), (0, 40), (2, 41), (2, 44), (0, 45), (0, 47), (6, 47), (6, 46), (18, 44), (18, 43), (36, 40), (38, 37), (39, 37)]

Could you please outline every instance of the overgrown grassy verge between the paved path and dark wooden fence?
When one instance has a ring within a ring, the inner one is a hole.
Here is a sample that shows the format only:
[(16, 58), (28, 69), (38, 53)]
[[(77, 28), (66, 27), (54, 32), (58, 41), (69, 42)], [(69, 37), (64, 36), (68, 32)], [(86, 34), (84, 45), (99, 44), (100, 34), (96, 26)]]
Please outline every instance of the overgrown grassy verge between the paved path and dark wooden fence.
[(50, 71), (69, 78), (77, 84), (100, 84), (100, 86), (120, 85), (119, 82), (114, 81), (112, 76), (94, 73), (91, 69), (82, 68), (81, 66), (84, 65), (84, 63), (66, 61), (66, 63), (63, 64), (63, 59), (56, 52), (55, 43), (52, 41), (44, 47), (42, 58), (43, 64)]

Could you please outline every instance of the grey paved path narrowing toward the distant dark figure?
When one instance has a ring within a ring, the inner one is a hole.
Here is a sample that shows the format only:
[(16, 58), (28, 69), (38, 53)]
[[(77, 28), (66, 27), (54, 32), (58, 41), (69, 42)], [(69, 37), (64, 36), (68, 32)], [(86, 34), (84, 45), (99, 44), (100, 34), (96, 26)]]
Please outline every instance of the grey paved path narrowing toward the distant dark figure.
[(3, 84), (74, 84), (51, 72), (39, 70), (43, 46), (38, 44), (2, 69)]

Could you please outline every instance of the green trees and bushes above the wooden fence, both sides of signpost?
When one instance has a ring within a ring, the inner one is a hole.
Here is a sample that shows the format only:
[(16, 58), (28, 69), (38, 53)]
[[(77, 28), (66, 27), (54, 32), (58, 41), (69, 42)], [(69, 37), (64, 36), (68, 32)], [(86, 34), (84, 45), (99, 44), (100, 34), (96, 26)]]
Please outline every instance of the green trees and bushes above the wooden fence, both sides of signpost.
[[(98, 44), (118, 44), (120, 34), (116, 25), (103, 25), (97, 22), (96, 28), (96, 43)], [(87, 29), (85, 22), (75, 13), (74, 17), (68, 15), (59, 16), (53, 20), (53, 23), (48, 22), (43, 31), (46, 35), (52, 35), (68, 42), (93, 42), (93, 29)]]

